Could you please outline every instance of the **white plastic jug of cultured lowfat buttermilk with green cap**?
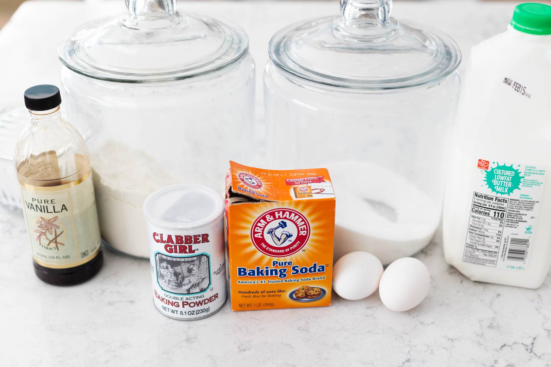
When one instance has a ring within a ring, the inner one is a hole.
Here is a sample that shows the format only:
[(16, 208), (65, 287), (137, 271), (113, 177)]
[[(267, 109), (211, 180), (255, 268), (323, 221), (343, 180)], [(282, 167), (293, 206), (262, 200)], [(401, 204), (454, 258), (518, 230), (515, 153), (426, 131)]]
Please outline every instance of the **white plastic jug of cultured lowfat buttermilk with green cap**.
[(444, 204), (446, 262), (471, 280), (537, 288), (549, 270), (550, 82), (550, 6), (472, 49)]

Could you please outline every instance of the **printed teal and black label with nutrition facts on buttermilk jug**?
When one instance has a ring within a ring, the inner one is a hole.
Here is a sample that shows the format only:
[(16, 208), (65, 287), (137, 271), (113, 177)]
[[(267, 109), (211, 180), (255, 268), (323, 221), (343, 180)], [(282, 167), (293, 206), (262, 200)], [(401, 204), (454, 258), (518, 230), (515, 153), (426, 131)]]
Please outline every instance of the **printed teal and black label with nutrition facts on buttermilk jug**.
[(479, 160), (463, 261), (525, 270), (543, 195), (545, 170)]

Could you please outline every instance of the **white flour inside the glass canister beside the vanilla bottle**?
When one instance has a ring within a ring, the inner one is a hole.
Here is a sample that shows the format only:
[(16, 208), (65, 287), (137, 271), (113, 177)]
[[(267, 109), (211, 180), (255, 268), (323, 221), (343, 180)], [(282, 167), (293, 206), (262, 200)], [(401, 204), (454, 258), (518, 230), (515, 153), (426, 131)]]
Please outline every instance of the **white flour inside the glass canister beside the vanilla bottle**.
[(118, 251), (149, 258), (143, 202), (176, 179), (143, 150), (113, 140), (92, 156), (92, 165), (101, 237)]

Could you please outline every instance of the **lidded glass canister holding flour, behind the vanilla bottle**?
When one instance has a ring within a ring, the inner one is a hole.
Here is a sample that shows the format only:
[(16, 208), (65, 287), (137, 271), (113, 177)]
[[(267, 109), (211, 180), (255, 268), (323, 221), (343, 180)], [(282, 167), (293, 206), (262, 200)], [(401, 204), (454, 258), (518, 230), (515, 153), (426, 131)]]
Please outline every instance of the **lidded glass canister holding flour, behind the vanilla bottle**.
[(60, 45), (68, 117), (89, 135), (102, 238), (149, 256), (147, 196), (170, 184), (221, 192), (254, 128), (254, 63), (239, 26), (183, 14), (175, 0), (127, 0), (128, 13)]

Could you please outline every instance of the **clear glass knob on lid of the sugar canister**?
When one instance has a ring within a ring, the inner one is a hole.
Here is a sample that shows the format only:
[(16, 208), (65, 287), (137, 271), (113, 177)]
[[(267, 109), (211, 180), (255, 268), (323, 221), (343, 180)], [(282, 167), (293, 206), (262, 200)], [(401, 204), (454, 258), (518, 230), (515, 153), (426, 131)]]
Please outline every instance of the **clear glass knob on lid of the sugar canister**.
[(391, 10), (392, 0), (341, 0), (341, 18), (334, 24), (337, 36), (363, 42), (388, 40), (398, 29)]

